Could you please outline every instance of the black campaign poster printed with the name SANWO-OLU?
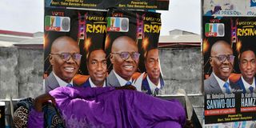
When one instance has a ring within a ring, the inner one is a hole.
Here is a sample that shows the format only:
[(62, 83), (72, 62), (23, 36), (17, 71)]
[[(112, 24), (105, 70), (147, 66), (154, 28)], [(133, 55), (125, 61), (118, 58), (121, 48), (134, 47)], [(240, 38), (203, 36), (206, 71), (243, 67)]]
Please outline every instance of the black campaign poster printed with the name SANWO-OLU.
[(203, 16), (202, 36), (205, 123), (249, 126), (256, 119), (256, 18)]

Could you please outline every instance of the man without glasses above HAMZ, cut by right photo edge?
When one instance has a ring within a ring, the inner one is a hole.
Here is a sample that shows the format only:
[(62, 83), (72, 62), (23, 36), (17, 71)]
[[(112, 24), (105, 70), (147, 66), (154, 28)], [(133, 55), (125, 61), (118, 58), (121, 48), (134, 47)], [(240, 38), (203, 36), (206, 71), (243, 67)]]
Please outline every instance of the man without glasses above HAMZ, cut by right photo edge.
[(236, 83), (243, 90), (243, 93), (255, 92), (256, 85), (254, 76), (256, 73), (256, 64), (254, 50), (246, 49), (241, 51), (239, 68), (242, 76)]

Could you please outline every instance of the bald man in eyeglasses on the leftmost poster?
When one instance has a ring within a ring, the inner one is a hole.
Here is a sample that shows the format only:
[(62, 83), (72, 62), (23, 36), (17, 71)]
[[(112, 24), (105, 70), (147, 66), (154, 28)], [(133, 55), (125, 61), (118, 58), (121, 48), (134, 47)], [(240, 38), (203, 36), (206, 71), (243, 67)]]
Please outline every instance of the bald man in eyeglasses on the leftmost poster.
[(82, 55), (73, 38), (62, 36), (52, 43), (49, 61), (53, 71), (45, 80), (46, 93), (58, 86), (74, 86)]

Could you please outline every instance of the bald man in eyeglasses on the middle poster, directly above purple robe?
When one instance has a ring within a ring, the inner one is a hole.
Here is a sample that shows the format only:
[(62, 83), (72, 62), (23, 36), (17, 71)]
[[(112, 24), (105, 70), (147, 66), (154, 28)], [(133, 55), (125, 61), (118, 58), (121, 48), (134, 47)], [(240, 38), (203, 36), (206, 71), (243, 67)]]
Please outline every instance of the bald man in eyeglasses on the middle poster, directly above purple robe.
[(116, 38), (110, 53), (113, 70), (106, 78), (106, 86), (131, 85), (131, 76), (138, 68), (139, 55), (134, 39), (127, 36)]

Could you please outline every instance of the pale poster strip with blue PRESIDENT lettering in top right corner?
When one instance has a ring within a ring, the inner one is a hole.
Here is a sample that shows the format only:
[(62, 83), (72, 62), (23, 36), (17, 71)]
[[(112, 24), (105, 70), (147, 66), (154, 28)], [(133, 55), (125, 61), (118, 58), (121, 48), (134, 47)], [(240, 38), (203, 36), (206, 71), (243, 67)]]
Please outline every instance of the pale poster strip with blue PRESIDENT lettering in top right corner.
[(202, 0), (204, 16), (255, 16), (255, 0)]

